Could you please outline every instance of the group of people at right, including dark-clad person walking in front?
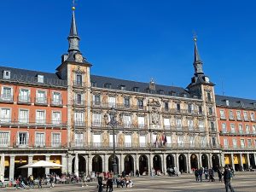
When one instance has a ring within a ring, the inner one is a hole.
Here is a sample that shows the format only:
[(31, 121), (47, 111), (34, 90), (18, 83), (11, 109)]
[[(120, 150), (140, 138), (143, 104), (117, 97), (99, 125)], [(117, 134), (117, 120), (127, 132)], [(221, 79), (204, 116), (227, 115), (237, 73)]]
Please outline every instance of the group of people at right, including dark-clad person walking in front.
[[(217, 170), (218, 172), (218, 181), (222, 182), (224, 180), (226, 192), (230, 191), (234, 192), (233, 187), (231, 186), (231, 180), (235, 176), (235, 172), (233, 168), (229, 166), (220, 167)], [(210, 168), (209, 170), (206, 168), (201, 167), (200, 169), (195, 169), (195, 181), (202, 182), (202, 176), (205, 174), (205, 179), (209, 182), (215, 182), (214, 179), (214, 170)], [(209, 177), (209, 178), (208, 178)]]

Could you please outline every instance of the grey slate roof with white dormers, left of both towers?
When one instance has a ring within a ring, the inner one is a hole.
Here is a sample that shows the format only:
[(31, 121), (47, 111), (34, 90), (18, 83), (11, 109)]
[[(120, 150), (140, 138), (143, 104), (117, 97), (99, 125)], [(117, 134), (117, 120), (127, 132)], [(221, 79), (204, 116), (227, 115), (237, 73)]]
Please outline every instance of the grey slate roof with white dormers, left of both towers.
[[(55, 85), (55, 86), (67, 86), (67, 81), (60, 79), (60, 77), (55, 73), (45, 73), (38, 71), (31, 71), (26, 69), (19, 69), (13, 67), (0, 67), (0, 79), (3, 79), (3, 71), (10, 72), (10, 81), (16, 81), (20, 83), (29, 84), (45, 84), (45, 85)], [(38, 83), (37, 76), (44, 75), (44, 83)]]

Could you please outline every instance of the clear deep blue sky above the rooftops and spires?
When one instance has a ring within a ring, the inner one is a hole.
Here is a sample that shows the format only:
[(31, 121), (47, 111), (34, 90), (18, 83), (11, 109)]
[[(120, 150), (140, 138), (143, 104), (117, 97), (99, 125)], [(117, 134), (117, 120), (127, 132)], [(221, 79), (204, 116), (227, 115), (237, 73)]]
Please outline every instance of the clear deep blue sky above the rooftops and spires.
[[(55, 72), (71, 0), (1, 1), (0, 65)], [(197, 32), (215, 91), (256, 99), (256, 1), (77, 0), (80, 49), (97, 75), (186, 87)]]

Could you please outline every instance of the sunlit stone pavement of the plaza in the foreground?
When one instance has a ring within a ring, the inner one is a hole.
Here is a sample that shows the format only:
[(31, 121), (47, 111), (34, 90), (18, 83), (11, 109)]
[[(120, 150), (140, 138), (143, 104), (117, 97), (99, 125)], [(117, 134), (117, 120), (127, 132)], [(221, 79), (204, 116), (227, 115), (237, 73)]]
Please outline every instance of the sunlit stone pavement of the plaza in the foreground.
[[(215, 174), (217, 175), (217, 174)], [(219, 183), (218, 178), (215, 182), (203, 181), (196, 183), (192, 174), (182, 175), (181, 177), (134, 177), (134, 187), (117, 189), (114, 186), (113, 191), (137, 191), (137, 192), (225, 192), (224, 183)], [(55, 188), (49, 189), (20, 189), (22, 191), (53, 191), (53, 192), (73, 192), (87, 191), (96, 192), (96, 182), (88, 183), (88, 187), (81, 187), (80, 183), (75, 184), (57, 184)], [(255, 192), (256, 191), (256, 172), (239, 172), (232, 180), (232, 186), (236, 192)], [(0, 189), (0, 191), (17, 191), (15, 189)], [(105, 192), (106, 189), (103, 190)]]

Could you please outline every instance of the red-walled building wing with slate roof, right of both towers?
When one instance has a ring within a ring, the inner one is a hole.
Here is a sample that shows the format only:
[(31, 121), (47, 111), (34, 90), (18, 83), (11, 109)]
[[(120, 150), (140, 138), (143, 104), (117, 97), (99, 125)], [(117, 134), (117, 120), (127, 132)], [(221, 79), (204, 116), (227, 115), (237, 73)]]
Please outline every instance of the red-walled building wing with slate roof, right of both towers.
[(256, 101), (216, 96), (216, 104), (224, 164), (236, 171), (255, 168)]

